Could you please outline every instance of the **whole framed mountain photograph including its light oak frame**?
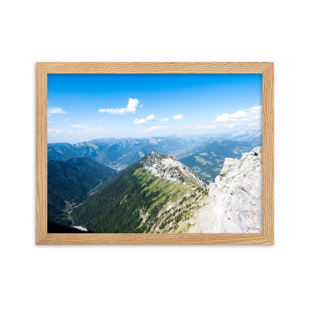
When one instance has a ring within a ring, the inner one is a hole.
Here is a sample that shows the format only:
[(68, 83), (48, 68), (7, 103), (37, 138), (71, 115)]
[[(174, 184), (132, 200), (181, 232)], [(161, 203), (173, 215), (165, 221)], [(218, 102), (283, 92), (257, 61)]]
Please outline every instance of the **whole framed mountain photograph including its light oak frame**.
[(38, 62), (36, 244), (273, 244), (272, 62)]

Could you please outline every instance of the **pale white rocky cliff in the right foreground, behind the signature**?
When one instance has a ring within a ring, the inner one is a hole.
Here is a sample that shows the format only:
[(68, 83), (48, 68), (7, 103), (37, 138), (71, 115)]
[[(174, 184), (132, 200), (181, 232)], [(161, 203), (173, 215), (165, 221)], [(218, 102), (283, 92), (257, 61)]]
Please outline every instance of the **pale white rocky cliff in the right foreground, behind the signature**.
[(226, 158), (189, 233), (262, 233), (262, 147)]

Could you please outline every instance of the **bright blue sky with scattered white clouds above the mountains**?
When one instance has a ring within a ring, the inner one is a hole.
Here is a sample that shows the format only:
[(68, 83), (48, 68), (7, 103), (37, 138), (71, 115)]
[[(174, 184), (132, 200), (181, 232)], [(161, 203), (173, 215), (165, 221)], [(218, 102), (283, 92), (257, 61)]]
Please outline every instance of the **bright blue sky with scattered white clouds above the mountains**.
[(48, 74), (48, 142), (262, 128), (262, 74)]

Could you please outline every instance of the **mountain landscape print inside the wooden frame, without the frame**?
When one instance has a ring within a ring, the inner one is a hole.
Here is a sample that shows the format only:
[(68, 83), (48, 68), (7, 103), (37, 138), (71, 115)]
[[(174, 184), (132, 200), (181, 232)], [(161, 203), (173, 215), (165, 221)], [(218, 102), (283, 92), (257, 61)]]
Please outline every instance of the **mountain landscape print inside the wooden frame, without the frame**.
[(48, 74), (48, 233), (261, 233), (261, 95), (261, 74)]

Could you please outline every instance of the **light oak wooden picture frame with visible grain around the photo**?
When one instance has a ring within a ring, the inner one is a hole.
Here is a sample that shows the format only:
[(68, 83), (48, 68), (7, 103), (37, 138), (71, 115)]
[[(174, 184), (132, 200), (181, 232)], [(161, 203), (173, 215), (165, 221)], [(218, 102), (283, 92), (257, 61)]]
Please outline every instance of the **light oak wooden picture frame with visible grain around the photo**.
[[(261, 234), (48, 234), (47, 74), (228, 73), (262, 74), (263, 231)], [(273, 62), (37, 62), (36, 64), (36, 244), (204, 245), (274, 243)]]

